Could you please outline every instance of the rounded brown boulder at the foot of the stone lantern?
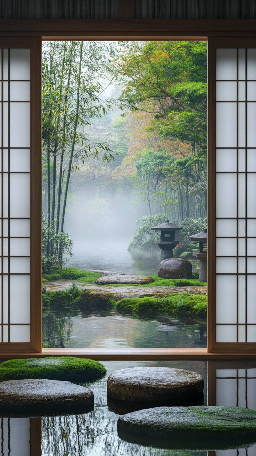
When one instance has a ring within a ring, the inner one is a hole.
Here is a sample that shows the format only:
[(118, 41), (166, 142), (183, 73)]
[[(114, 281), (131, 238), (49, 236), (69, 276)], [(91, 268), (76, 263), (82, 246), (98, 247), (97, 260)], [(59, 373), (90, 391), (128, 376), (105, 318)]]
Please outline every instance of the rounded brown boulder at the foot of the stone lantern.
[(191, 279), (192, 264), (183, 258), (164, 259), (158, 266), (157, 275), (164, 279)]

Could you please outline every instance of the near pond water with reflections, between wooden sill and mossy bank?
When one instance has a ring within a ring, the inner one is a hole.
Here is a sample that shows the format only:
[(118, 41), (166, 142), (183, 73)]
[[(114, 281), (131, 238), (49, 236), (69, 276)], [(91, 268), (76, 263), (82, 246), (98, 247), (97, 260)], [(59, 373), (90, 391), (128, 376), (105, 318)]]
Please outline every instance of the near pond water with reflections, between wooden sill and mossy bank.
[(43, 310), (43, 347), (206, 347), (206, 319), (131, 317), (61, 302)]

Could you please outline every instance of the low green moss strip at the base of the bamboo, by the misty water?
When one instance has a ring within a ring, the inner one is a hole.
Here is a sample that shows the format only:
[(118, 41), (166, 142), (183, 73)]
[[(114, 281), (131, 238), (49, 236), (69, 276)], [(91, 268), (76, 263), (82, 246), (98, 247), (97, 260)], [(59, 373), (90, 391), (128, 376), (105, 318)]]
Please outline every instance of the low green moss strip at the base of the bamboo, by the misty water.
[(51, 274), (43, 274), (43, 281), (46, 280), (78, 280), (82, 279), (86, 283), (94, 284), (95, 280), (101, 277), (99, 272), (84, 271), (77, 268), (51, 269)]

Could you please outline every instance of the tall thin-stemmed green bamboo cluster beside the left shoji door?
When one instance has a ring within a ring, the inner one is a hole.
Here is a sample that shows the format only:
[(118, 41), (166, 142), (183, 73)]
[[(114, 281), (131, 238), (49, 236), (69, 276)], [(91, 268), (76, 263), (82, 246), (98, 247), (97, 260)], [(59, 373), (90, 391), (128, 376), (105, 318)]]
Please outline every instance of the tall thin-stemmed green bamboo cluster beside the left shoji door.
[[(106, 58), (102, 58), (105, 55)], [(47, 166), (47, 225), (56, 234), (64, 231), (70, 176), (88, 157), (113, 158), (107, 144), (91, 143), (86, 128), (91, 119), (107, 114), (112, 102), (101, 93), (111, 44), (97, 41), (52, 41), (43, 44), (42, 137)], [(53, 249), (50, 231), (47, 256)], [(59, 243), (60, 259), (63, 255)]]

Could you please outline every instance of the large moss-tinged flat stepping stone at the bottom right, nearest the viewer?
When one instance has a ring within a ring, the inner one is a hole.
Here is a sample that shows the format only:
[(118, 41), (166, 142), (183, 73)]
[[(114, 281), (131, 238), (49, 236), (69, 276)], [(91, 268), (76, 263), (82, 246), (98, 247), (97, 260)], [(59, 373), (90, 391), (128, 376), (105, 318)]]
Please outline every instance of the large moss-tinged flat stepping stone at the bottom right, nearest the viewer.
[(256, 411), (240, 407), (156, 407), (121, 416), (118, 435), (142, 445), (226, 449), (256, 441)]

